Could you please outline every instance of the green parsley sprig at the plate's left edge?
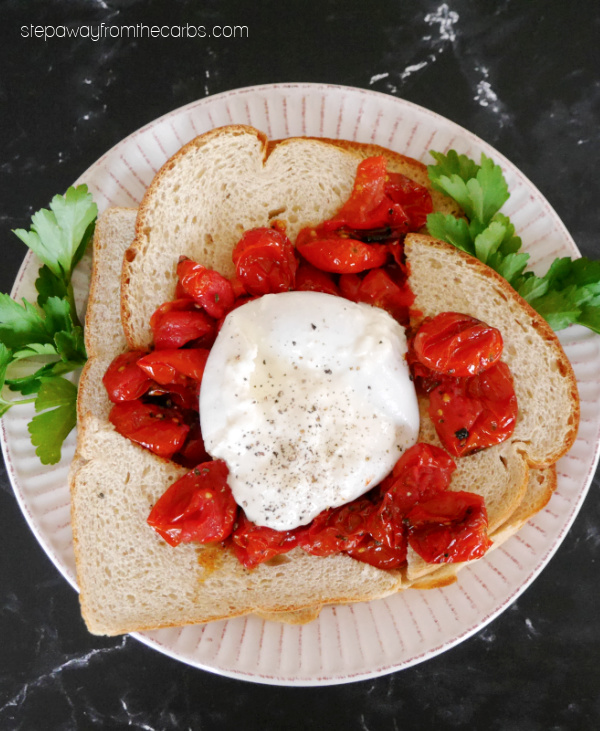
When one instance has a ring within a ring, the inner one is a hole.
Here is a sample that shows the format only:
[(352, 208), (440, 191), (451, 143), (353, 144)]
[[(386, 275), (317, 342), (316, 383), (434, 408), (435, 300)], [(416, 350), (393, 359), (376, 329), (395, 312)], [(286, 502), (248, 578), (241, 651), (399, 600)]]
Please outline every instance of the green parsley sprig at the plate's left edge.
[(76, 423), (77, 387), (63, 376), (80, 368), (87, 354), (71, 278), (97, 214), (85, 185), (55, 196), (49, 210), (32, 216), (29, 231), (14, 232), (42, 261), (36, 302), (23, 299), (21, 304), (0, 294), (0, 393), (6, 385), (25, 396), (36, 394), (0, 397), (0, 416), (16, 404), (35, 404), (28, 429), (42, 464), (60, 460), (62, 444)]

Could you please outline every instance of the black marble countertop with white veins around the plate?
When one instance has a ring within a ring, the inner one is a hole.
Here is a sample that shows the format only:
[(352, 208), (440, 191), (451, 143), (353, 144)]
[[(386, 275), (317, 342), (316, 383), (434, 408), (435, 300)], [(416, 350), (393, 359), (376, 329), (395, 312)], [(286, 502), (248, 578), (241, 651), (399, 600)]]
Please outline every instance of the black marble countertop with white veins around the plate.
[[(54, 38), (31, 26), (246, 25), (247, 38)], [(10, 233), (103, 152), (187, 102), (322, 81), (421, 104), (494, 145), (600, 257), (600, 9), (594, 0), (0, 3), (0, 285)], [(600, 727), (598, 475), (564, 543), (481, 632), (421, 665), (345, 686), (230, 680), (134, 639), (87, 633), (77, 595), (0, 482), (2, 729)]]

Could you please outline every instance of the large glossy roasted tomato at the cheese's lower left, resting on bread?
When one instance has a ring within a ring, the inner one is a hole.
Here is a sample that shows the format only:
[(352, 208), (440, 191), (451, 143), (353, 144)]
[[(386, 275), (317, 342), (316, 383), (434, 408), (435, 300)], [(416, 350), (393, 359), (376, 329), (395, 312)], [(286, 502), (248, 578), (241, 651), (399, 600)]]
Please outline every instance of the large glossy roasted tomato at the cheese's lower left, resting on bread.
[(199, 464), (158, 499), (148, 525), (171, 546), (224, 540), (237, 514), (227, 474), (222, 460)]

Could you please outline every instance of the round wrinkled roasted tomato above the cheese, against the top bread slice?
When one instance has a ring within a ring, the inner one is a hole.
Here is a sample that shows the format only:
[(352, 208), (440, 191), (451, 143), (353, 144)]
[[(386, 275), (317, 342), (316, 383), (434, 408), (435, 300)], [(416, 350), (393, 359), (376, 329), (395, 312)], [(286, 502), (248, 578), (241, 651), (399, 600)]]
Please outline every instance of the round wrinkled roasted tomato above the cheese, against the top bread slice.
[(233, 263), (249, 294), (276, 294), (294, 287), (298, 260), (292, 242), (278, 229), (246, 231), (233, 250)]

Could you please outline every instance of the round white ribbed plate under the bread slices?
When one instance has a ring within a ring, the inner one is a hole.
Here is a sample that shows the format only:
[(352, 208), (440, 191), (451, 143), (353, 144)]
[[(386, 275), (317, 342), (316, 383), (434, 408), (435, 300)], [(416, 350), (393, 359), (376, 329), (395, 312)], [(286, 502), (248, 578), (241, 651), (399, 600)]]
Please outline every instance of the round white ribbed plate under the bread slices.
[[(545, 271), (558, 255), (578, 251), (540, 192), (500, 153), (456, 124), (383, 94), (324, 84), (275, 84), (219, 94), (152, 122), (107, 152), (78, 182), (100, 209), (137, 206), (146, 186), (181, 145), (221, 125), (250, 124), (271, 139), (294, 135), (374, 142), (430, 162), (431, 149), (454, 148), (504, 168), (512, 218), (532, 262)], [(31, 296), (36, 263), (28, 256), (13, 296)], [(85, 290), (85, 276), (76, 282)], [(581, 427), (558, 464), (558, 488), (548, 506), (458, 583), (430, 592), (329, 607), (295, 627), (243, 617), (204, 626), (138, 634), (145, 644), (182, 662), (230, 677), (279, 685), (326, 685), (406, 668), (462, 642), (506, 609), (550, 560), (579, 510), (598, 460), (600, 337), (580, 327), (560, 334), (577, 376)], [(42, 547), (76, 587), (67, 475), (75, 438), (59, 465), (43, 467), (29, 442), (29, 407), (3, 420), (2, 447), (15, 494)]]

